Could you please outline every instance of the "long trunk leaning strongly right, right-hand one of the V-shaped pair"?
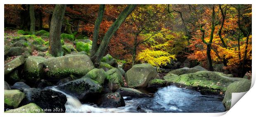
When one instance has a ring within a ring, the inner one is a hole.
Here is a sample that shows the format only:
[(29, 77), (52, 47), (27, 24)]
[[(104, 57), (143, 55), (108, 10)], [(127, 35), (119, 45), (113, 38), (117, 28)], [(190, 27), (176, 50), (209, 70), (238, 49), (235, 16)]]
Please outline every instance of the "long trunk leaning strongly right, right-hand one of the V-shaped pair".
[(99, 66), (100, 66), (100, 60), (102, 59), (102, 57), (104, 56), (104, 54), (107, 50), (107, 47), (108, 47), (111, 37), (114, 35), (116, 30), (118, 30), (119, 26), (121, 26), (123, 21), (125, 21), (126, 17), (135, 9), (136, 6), (137, 5), (128, 5), (119, 14), (116, 21), (109, 27), (109, 29), (107, 30), (107, 33), (105, 33), (99, 49), (97, 49), (97, 52), (95, 53), (95, 55), (91, 57), (92, 62), (94, 63), (96, 68), (99, 68)]

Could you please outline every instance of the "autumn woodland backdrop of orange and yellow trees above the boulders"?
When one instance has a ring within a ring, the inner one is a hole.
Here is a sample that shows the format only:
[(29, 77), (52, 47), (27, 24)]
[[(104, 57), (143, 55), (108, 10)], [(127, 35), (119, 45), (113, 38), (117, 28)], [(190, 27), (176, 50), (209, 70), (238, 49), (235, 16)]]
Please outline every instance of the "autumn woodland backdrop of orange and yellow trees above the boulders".
[[(63, 16), (55, 13), (57, 7)], [(53, 18), (61, 21), (52, 23)], [(251, 23), (251, 5), (5, 5), (5, 29), (35, 36), (49, 32), (38, 38), (49, 54), (67, 54), (63, 41), (98, 64), (106, 54), (125, 61), (125, 70), (137, 63), (162, 68), (180, 61), (211, 71), (221, 65), (243, 76), (251, 70)]]

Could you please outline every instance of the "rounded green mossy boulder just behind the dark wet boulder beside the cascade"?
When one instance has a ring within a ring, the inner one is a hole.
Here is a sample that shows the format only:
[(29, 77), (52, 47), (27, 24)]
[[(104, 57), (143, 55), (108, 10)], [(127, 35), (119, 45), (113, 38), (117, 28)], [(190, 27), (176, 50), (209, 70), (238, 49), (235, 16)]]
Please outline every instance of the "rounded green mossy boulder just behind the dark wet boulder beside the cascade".
[(90, 72), (88, 72), (85, 76), (83, 76), (82, 78), (90, 78), (92, 80), (97, 81), (99, 84), (103, 85), (105, 78), (106, 78), (106, 73), (103, 69), (97, 69), (94, 68), (92, 70), (90, 70)]

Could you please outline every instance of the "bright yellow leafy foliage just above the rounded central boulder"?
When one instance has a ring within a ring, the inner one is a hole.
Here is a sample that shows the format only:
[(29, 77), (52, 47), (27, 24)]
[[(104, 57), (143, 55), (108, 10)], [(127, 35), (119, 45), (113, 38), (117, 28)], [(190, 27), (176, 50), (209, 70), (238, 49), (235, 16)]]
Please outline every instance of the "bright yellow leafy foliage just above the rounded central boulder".
[(170, 63), (171, 60), (176, 60), (175, 55), (171, 55), (166, 51), (160, 50), (155, 51), (145, 49), (137, 55), (137, 61), (149, 63), (156, 68), (159, 68), (161, 65)]

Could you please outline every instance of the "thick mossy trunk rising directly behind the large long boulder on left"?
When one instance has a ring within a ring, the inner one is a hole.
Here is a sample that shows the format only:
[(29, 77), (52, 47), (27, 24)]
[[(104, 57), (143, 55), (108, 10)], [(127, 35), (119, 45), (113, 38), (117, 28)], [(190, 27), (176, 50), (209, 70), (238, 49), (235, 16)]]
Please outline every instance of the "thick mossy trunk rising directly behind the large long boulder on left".
[(62, 28), (62, 19), (64, 17), (66, 5), (56, 5), (52, 14), (51, 30), (49, 36), (49, 52), (53, 56), (62, 55), (62, 46), (60, 42), (60, 34)]

